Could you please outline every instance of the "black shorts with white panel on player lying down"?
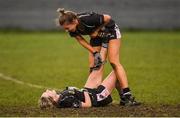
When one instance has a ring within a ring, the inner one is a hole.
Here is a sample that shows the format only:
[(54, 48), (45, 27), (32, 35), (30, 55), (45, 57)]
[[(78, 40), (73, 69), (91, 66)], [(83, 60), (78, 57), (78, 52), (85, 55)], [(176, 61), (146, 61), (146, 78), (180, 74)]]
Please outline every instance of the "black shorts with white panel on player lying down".
[(89, 93), (93, 107), (106, 106), (112, 102), (111, 95), (107, 94), (107, 89), (102, 85), (98, 86), (96, 89), (90, 89), (90, 88), (85, 88), (85, 89)]

